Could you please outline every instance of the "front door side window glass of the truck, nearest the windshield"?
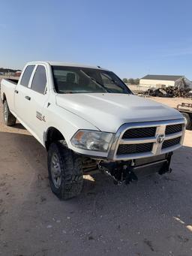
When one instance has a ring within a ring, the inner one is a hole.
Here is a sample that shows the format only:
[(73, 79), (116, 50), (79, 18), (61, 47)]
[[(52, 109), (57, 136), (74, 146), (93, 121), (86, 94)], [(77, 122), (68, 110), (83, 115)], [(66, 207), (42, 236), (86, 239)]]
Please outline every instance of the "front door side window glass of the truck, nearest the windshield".
[(46, 88), (46, 70), (43, 66), (38, 65), (34, 73), (34, 77), (31, 83), (31, 89), (35, 92), (43, 94)]

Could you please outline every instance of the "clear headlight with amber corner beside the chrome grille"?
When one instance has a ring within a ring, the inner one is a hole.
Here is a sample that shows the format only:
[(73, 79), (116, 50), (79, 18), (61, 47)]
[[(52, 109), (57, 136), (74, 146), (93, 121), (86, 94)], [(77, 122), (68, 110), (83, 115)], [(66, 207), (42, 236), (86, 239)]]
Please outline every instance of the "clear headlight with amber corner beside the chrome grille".
[(80, 130), (72, 137), (71, 143), (80, 149), (107, 152), (112, 138), (113, 134), (108, 132)]

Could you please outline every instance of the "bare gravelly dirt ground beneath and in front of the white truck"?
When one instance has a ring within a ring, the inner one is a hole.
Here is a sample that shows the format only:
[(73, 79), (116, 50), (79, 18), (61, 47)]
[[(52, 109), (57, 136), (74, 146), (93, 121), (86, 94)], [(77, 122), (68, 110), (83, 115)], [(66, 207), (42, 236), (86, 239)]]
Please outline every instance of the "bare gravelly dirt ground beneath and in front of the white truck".
[(0, 117), (0, 255), (192, 255), (191, 136), (173, 155), (171, 174), (127, 186), (88, 176), (80, 197), (60, 201), (45, 149)]

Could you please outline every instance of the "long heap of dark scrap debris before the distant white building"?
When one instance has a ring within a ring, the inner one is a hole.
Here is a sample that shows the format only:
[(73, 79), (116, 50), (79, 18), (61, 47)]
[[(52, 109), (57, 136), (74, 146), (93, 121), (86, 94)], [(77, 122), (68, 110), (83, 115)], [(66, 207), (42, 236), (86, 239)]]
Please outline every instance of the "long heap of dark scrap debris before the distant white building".
[(153, 97), (167, 97), (167, 98), (192, 98), (192, 91), (190, 88), (179, 88), (178, 86), (169, 86), (165, 88), (151, 88), (144, 92), (144, 95)]

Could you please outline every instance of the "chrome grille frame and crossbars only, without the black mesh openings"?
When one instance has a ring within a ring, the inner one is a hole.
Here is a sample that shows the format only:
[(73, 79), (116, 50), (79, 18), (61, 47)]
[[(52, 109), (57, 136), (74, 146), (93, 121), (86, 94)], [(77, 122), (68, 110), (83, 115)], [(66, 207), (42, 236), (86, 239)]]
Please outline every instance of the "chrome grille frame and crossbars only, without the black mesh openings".
[[(181, 131), (173, 134), (165, 134), (166, 125), (178, 125), (178, 124), (181, 124)], [(147, 128), (147, 127), (156, 127), (156, 133), (154, 137), (122, 139), (124, 132), (130, 128)], [(145, 157), (150, 157), (154, 155), (165, 154), (167, 152), (172, 152), (175, 149), (178, 149), (182, 145), (184, 140), (184, 131), (185, 131), (184, 119), (175, 119), (175, 120), (157, 121), (157, 122), (156, 121), (155, 122), (132, 122), (132, 123), (121, 125), (121, 127), (118, 128), (118, 131), (116, 132), (115, 137), (113, 139), (113, 143), (110, 148), (108, 158), (113, 161), (120, 161), (120, 160), (127, 161), (131, 159), (145, 158)], [(176, 137), (181, 137), (181, 140), (178, 144), (162, 149), (164, 140), (171, 140)], [(119, 145), (139, 144), (139, 143), (153, 143), (151, 151), (117, 155)]]

